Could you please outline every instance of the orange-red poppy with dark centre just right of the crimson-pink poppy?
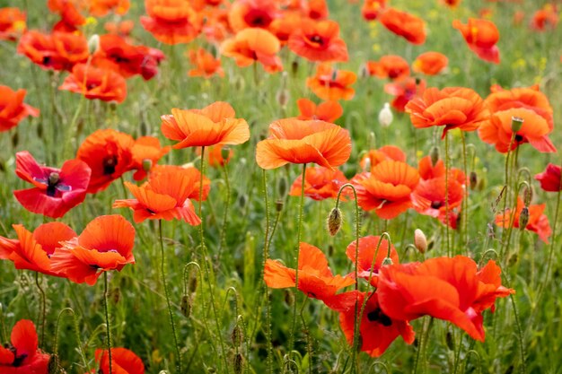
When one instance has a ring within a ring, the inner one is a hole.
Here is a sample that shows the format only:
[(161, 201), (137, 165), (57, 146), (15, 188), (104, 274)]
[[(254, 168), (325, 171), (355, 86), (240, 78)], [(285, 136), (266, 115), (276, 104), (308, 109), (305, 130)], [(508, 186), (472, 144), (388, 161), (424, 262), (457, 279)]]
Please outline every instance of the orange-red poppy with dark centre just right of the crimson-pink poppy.
[(96, 130), (78, 148), (76, 158), (92, 169), (88, 193), (95, 194), (133, 168), (135, 140), (113, 129)]

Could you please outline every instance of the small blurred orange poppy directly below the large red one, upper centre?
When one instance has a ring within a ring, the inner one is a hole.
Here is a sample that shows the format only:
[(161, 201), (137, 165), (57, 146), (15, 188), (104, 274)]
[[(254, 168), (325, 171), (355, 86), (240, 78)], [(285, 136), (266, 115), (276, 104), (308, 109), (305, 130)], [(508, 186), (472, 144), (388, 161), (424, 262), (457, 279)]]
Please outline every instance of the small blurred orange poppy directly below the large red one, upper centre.
[(356, 91), (349, 86), (356, 80), (355, 73), (324, 63), (318, 65), (316, 75), (306, 78), (306, 85), (321, 100), (351, 100)]

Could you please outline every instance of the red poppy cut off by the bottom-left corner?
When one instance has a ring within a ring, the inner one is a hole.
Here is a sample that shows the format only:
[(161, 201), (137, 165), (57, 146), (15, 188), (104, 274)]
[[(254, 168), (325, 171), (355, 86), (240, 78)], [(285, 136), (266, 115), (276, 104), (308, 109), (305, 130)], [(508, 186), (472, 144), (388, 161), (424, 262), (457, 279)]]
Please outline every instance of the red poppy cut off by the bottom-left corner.
[(48, 374), (50, 355), (38, 348), (35, 325), (28, 319), (19, 320), (12, 329), (12, 344), (0, 344), (0, 372), (3, 374)]

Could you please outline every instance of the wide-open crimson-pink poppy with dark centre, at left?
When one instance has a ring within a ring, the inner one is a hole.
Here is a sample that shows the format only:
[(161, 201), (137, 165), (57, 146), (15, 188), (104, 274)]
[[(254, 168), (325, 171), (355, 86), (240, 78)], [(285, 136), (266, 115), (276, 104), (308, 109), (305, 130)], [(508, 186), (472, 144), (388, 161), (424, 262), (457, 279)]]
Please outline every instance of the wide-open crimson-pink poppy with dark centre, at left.
[(31, 213), (59, 218), (86, 197), (92, 170), (83, 161), (65, 161), (61, 169), (40, 166), (30, 152), (15, 154), (18, 177), (35, 187), (13, 191), (13, 196)]

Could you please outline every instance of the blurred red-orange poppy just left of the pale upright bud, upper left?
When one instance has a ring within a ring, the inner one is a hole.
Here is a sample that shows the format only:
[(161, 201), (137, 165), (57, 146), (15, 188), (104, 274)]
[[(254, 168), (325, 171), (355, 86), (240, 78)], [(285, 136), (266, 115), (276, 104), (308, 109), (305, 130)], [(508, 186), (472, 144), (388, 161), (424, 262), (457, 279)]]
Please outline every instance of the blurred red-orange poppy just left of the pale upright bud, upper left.
[(88, 41), (83, 35), (67, 32), (42, 34), (34, 30), (23, 34), (17, 52), (43, 69), (68, 71), (89, 56)]

